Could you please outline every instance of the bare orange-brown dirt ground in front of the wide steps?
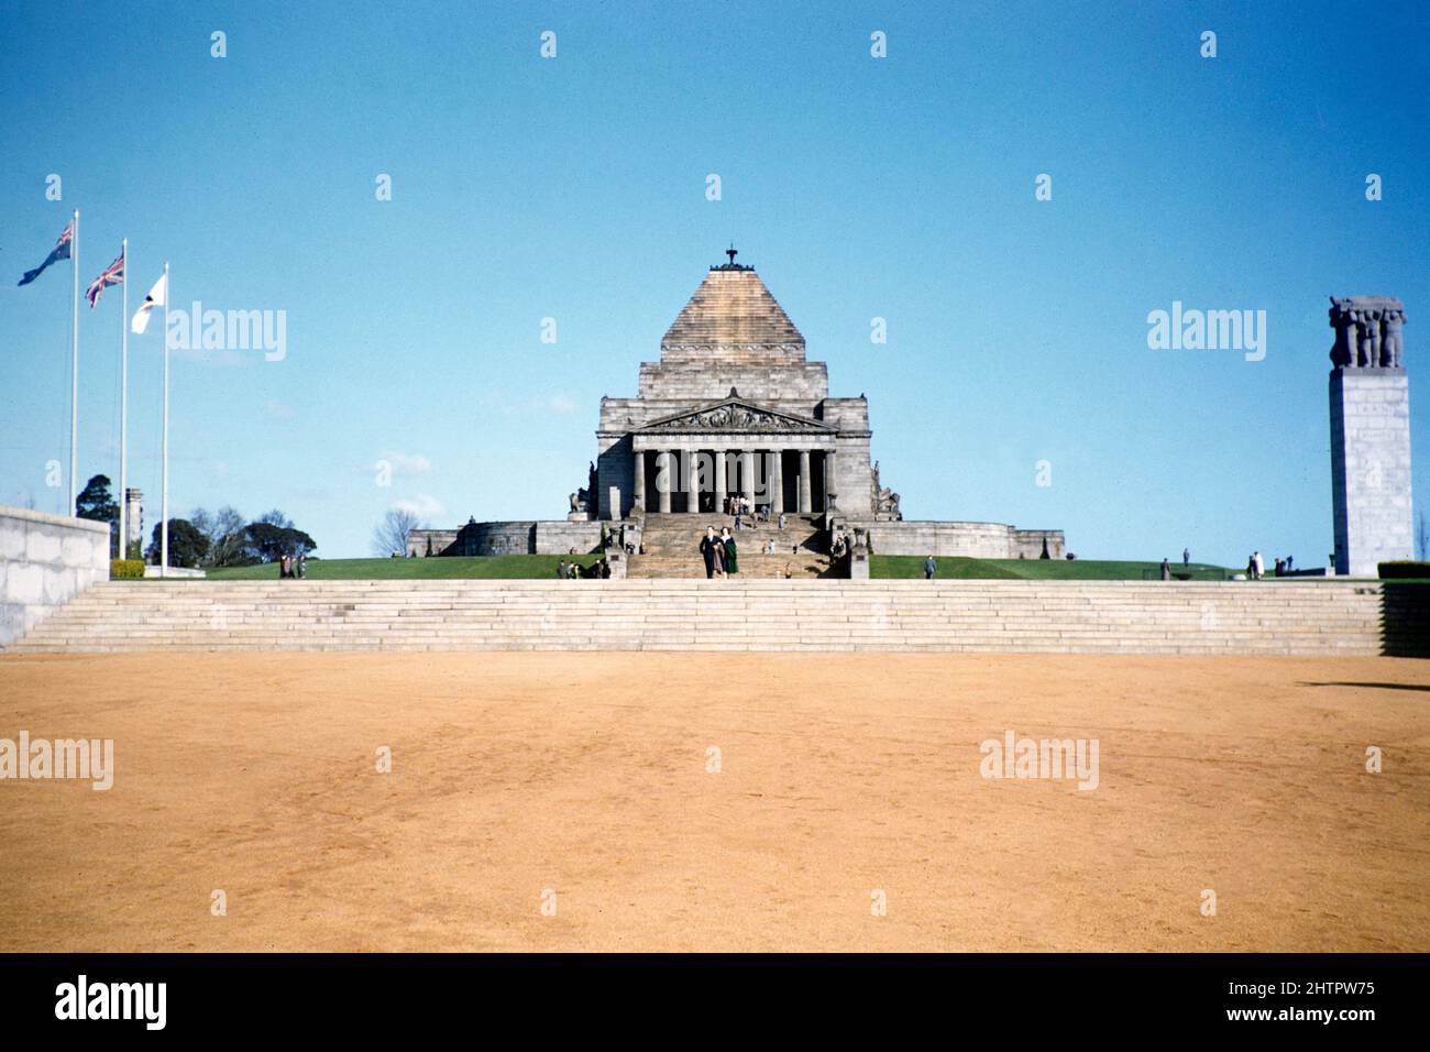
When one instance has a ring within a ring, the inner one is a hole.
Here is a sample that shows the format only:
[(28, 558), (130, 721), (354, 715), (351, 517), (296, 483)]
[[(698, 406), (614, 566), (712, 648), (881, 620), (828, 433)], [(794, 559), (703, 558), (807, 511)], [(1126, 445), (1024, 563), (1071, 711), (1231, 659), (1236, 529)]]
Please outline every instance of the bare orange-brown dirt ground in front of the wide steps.
[(20, 730), (116, 774), (0, 781), (0, 950), (1430, 950), (1423, 661), (0, 658)]

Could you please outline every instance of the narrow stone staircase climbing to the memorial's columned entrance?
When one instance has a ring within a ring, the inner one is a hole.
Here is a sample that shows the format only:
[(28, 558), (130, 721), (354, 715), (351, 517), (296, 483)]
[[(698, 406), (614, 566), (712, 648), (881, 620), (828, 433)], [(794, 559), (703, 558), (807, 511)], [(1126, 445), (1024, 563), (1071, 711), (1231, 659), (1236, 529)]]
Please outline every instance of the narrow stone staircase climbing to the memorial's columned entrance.
[[(785, 515), (785, 528), (762, 522), (735, 531), (734, 515), (684, 515), (646, 514), (641, 531), (644, 555), (632, 555), (626, 574), (644, 580), (705, 578), (705, 561), (701, 558), (699, 541), (705, 527), (729, 527), (735, 537), (739, 558), (738, 577), (746, 580), (784, 580), (785, 567), (797, 580), (835, 577), (838, 568), (824, 550), (824, 528), (818, 515)], [(765, 544), (774, 540), (775, 554), (762, 552)]]

